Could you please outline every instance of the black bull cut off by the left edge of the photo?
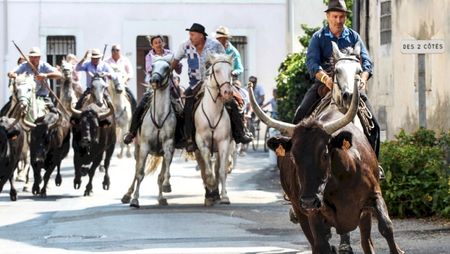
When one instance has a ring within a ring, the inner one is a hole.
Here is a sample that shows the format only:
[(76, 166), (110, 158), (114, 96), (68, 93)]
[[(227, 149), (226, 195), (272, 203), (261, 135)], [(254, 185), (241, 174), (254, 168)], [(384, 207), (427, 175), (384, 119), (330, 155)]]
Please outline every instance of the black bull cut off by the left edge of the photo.
[(0, 192), (9, 181), (11, 185), (9, 197), (12, 201), (17, 200), (13, 176), (22, 151), (23, 139), (23, 131), (18, 121), (7, 117), (0, 118)]

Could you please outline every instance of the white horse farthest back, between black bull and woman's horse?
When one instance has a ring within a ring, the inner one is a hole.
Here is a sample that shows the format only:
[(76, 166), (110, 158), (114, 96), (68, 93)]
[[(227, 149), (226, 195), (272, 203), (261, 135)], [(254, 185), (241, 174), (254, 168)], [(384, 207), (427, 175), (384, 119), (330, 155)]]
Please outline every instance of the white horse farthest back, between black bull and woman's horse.
[(111, 66), (113, 70), (116, 72), (118, 76), (117, 81), (110, 81), (108, 86), (109, 94), (111, 95), (111, 99), (113, 101), (114, 109), (115, 109), (115, 118), (116, 118), (116, 133), (117, 137), (120, 139), (120, 152), (117, 154), (118, 158), (123, 157), (123, 150), (126, 147), (127, 152), (126, 155), (128, 158), (131, 157), (130, 145), (125, 145), (123, 139), (121, 138), (123, 134), (128, 131), (130, 127), (130, 121), (132, 116), (131, 103), (128, 99), (127, 93), (125, 91), (125, 75), (120, 72), (117, 66)]

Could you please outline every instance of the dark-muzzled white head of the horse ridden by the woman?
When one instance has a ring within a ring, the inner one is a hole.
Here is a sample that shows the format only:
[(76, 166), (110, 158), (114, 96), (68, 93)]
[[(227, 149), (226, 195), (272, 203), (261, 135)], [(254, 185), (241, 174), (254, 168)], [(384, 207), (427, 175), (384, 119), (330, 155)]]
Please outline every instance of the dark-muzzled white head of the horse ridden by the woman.
[(165, 55), (164, 57), (156, 57), (152, 64), (152, 76), (150, 85), (153, 89), (161, 89), (169, 84), (171, 73), (171, 62), (173, 55)]

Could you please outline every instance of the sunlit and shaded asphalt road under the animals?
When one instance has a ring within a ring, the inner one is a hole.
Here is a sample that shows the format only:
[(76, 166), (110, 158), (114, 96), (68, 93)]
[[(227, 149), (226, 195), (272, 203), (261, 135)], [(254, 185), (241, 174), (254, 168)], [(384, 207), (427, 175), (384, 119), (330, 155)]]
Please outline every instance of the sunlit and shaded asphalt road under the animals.
[[(120, 202), (134, 176), (134, 159), (113, 158), (108, 191), (97, 171), (90, 197), (83, 197), (86, 177), (79, 190), (73, 189), (72, 165), (72, 157), (64, 160), (62, 186), (54, 185), (53, 175), (46, 199), (19, 192), (18, 201), (10, 202), (5, 186), (0, 253), (310, 253), (299, 226), (289, 221), (289, 204), (267, 153), (238, 158), (228, 178), (231, 204), (214, 207), (203, 206), (200, 173), (179, 153), (171, 169), (168, 206), (158, 205), (156, 175), (142, 184), (140, 209)], [(445, 221), (394, 220), (394, 227), (407, 253), (450, 253)], [(372, 233), (377, 253), (388, 253), (376, 224)], [(355, 253), (362, 253), (359, 233), (351, 238)]]

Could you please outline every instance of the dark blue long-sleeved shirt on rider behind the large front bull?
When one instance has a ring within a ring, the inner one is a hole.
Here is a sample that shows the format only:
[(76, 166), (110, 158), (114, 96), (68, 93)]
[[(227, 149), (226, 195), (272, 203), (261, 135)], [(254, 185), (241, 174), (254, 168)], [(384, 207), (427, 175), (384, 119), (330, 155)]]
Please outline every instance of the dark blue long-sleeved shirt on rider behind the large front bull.
[(308, 52), (306, 54), (306, 67), (308, 68), (311, 78), (315, 78), (318, 71), (323, 70), (326, 73), (333, 73), (334, 66), (331, 65), (333, 58), (333, 47), (331, 41), (336, 42), (339, 49), (354, 47), (357, 42), (361, 45), (361, 66), (363, 71), (367, 71), (372, 75), (372, 60), (367, 52), (366, 46), (361, 40), (359, 34), (344, 26), (344, 30), (339, 38), (334, 36), (329, 27), (325, 26), (315, 32), (309, 42)]

